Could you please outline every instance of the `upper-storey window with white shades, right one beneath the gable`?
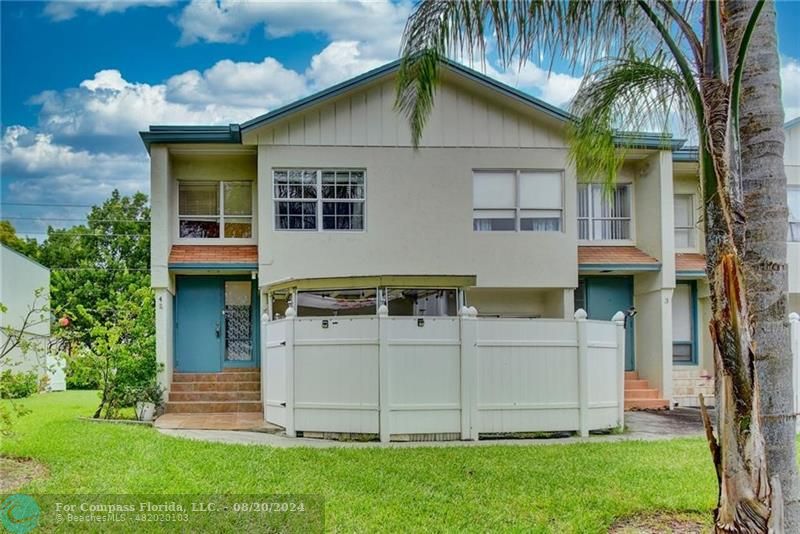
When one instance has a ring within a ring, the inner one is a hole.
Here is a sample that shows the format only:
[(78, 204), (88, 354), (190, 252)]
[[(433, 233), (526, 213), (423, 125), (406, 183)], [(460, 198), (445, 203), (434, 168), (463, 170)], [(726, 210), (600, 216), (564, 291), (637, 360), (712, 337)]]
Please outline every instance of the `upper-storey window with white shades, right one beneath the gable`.
[(559, 171), (473, 171), (473, 230), (560, 232), (563, 183)]

